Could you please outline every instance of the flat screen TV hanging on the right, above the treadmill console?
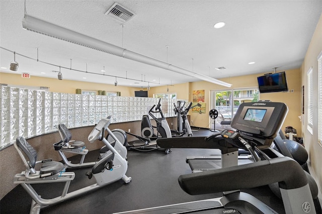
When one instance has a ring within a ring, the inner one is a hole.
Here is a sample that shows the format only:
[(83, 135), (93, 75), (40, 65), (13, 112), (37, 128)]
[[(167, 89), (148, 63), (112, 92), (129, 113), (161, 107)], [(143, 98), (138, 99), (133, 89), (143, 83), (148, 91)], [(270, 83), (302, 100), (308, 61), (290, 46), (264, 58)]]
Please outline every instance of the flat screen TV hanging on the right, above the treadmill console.
[(257, 77), (261, 93), (288, 91), (285, 71)]

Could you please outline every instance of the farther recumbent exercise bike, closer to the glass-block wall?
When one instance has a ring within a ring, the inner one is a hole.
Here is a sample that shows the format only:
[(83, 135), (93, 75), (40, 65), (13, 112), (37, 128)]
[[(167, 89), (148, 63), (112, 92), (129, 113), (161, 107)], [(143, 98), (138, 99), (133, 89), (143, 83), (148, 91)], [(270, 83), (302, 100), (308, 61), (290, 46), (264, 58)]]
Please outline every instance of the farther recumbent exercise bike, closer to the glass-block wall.
[[(111, 119), (111, 116), (108, 116), (108, 120)], [(112, 131), (107, 127), (106, 131), (108, 135), (110, 135), (109, 142), (110, 144), (116, 149), (116, 151), (126, 159), (127, 156), (127, 149), (124, 147), (123, 144), (120, 143), (118, 138), (112, 134)], [(85, 162), (85, 156), (89, 152), (88, 149), (86, 149), (85, 143), (83, 141), (77, 141), (77, 140), (71, 140), (72, 135), (71, 132), (67, 129), (67, 127), (64, 124), (58, 124), (58, 132), (61, 137), (61, 140), (58, 143), (55, 143), (54, 149), (58, 151), (61, 159), (63, 160), (64, 164), (69, 167), (69, 168), (78, 168), (78, 167), (92, 167), (94, 166), (97, 161), (95, 162)], [(109, 149), (107, 146), (103, 146), (100, 149), (100, 157), (98, 159), (102, 159), (105, 157), (105, 155), (109, 154), (108, 153)], [(72, 154), (77, 154), (81, 155), (81, 160), (79, 163), (71, 163), (70, 161), (67, 160), (67, 157), (65, 153), (72, 153)]]

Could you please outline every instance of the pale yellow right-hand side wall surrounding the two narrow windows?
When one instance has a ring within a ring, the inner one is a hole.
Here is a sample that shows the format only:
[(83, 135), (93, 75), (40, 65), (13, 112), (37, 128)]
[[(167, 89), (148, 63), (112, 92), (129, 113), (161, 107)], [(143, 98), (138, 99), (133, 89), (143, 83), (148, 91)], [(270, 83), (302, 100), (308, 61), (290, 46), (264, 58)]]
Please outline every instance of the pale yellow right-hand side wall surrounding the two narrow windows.
[[(311, 39), (310, 45), (307, 49), (303, 64), (301, 66), (301, 81), (304, 85), (304, 123), (302, 124), (302, 135), (304, 138), (304, 145), (306, 150), (309, 152), (310, 163), (315, 173), (315, 177), (318, 181), (319, 189), (322, 188), (322, 146), (317, 143), (317, 112), (318, 112), (318, 103), (317, 98), (318, 93), (318, 62), (317, 56), (322, 52), (322, 15), (319, 19), (319, 22), (316, 26), (315, 32)], [(312, 67), (313, 75), (313, 134), (307, 131), (307, 71)], [(321, 196), (322, 198), (322, 196)]]

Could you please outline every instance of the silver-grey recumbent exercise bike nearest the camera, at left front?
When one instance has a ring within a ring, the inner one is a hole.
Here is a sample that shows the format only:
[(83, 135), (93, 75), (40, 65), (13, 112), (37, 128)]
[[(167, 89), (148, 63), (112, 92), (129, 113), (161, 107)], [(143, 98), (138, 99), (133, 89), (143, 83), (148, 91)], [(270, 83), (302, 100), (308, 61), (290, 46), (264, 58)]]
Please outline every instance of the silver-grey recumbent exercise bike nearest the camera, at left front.
[[(40, 209), (43, 207), (101, 188), (119, 179), (122, 179), (125, 183), (131, 181), (131, 177), (125, 175), (127, 171), (127, 161), (115, 150), (106, 138), (104, 138), (105, 131), (110, 123), (110, 119), (102, 119), (88, 137), (90, 142), (94, 142), (95, 140), (103, 141), (109, 149), (104, 158), (93, 166), (92, 171), (86, 173), (89, 179), (94, 176), (96, 183), (72, 192), (68, 192), (68, 188), (70, 182), (75, 177), (74, 172), (65, 172), (66, 166), (64, 166), (63, 163), (51, 161), (51, 159), (37, 161), (37, 152), (35, 149), (23, 137), (17, 138), (14, 146), (22, 158), (26, 170), (15, 175), (14, 183), (21, 184), (32, 197), (30, 213), (39, 213)], [(38, 171), (35, 169), (35, 165), (40, 163), (41, 168)], [(42, 198), (31, 185), (43, 184), (44, 188), (46, 188), (47, 183), (55, 184), (57, 182), (65, 182), (62, 194), (50, 199)]]

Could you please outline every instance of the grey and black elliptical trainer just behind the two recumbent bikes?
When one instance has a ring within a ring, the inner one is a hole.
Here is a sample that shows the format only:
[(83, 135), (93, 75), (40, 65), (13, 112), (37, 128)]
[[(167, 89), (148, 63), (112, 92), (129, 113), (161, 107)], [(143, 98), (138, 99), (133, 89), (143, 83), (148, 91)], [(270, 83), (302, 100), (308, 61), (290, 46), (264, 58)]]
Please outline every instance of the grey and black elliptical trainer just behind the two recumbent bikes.
[[(158, 151), (164, 151), (166, 154), (169, 154), (171, 152), (171, 149), (169, 148), (160, 148), (156, 144), (156, 139), (158, 138), (171, 138), (171, 130), (169, 127), (169, 124), (167, 122), (167, 119), (165, 118), (162, 109), (161, 109), (161, 99), (159, 99), (157, 105), (153, 105), (152, 108), (149, 110), (148, 114), (151, 118), (154, 119), (156, 123), (156, 127), (153, 127), (151, 125), (150, 119), (148, 115), (143, 115), (141, 120), (141, 135), (134, 135), (130, 132), (126, 132), (121, 129), (114, 129), (112, 130), (112, 133), (116, 138), (119, 140), (119, 142), (122, 145), (125, 145), (128, 150), (136, 150), (141, 152), (148, 152), (152, 150), (158, 150)], [(160, 118), (156, 118), (156, 114), (160, 114)], [(154, 129), (156, 129), (156, 133), (154, 133)], [(127, 142), (126, 135), (132, 135), (139, 139), (139, 141), (133, 142), (132, 144), (129, 144)], [(107, 136), (108, 140), (113, 140), (112, 135)]]

